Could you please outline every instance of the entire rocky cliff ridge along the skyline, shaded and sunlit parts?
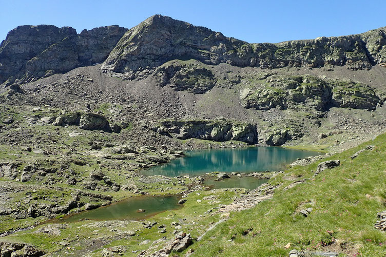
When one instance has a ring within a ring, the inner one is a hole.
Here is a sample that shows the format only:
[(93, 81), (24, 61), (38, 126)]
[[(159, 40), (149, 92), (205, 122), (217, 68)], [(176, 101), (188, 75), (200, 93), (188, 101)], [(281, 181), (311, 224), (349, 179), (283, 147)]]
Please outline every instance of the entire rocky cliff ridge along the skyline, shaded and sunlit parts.
[(238, 67), (323, 67), (366, 69), (386, 61), (386, 27), (357, 35), (318, 37), (279, 44), (249, 44), (162, 15), (129, 30), (108, 26), (83, 30), (52, 25), (19, 26), (0, 45), (0, 83), (22, 84), (81, 66), (102, 63), (103, 72), (138, 72), (170, 60)]

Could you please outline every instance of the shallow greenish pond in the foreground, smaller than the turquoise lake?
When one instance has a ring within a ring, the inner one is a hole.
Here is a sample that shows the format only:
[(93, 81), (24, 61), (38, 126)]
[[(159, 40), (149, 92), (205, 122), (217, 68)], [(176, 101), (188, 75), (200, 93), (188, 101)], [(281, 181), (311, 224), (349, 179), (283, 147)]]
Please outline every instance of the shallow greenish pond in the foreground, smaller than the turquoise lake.
[[(65, 216), (60, 222), (75, 222), (81, 219), (105, 221), (105, 220), (142, 220), (157, 213), (179, 209), (183, 205), (178, 204), (177, 195), (161, 196), (136, 196), (113, 203), (94, 210), (86, 210), (73, 215)], [(144, 209), (145, 212), (137, 212)]]

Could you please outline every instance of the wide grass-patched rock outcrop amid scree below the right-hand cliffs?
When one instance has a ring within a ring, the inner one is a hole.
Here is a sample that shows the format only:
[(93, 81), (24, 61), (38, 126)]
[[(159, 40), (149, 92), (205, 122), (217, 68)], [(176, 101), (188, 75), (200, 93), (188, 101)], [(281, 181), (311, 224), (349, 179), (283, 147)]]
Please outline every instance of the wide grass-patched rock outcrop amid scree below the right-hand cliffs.
[(256, 78), (255, 89), (240, 91), (241, 105), (247, 109), (297, 108), (306, 106), (318, 111), (331, 107), (375, 110), (384, 97), (368, 85), (353, 81), (326, 81), (311, 75), (272, 75)]

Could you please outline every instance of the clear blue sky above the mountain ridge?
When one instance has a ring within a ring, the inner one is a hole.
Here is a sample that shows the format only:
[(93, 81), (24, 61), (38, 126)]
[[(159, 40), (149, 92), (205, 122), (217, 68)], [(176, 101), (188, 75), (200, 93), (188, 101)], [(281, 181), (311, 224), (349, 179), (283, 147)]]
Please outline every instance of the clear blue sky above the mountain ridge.
[(386, 0), (0, 0), (0, 41), (19, 25), (131, 28), (153, 14), (249, 43), (339, 36), (386, 26)]

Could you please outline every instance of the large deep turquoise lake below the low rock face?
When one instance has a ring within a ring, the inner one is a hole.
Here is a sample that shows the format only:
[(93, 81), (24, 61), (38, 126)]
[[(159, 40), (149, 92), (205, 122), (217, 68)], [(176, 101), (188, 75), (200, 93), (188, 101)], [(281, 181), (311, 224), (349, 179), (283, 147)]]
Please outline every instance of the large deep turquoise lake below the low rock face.
[(246, 147), (187, 151), (186, 156), (141, 171), (144, 175), (202, 175), (207, 172), (277, 171), (297, 158), (316, 156), (314, 151), (283, 147)]

